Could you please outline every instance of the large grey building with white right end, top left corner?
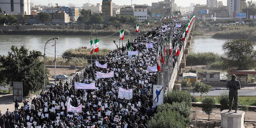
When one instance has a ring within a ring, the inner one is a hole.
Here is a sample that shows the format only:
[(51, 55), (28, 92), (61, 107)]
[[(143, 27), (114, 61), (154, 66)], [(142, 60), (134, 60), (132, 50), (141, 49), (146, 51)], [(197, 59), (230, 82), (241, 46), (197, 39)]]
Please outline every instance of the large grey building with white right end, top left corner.
[(6, 13), (30, 15), (30, 0), (0, 0), (0, 8)]

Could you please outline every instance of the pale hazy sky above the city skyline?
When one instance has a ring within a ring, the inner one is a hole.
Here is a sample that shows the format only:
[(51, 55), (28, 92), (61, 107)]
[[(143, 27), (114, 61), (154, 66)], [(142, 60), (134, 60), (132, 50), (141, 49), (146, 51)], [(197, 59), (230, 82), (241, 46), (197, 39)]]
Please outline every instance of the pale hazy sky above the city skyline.
[[(58, 3), (60, 6), (67, 6), (69, 3), (76, 4), (77, 6), (83, 6), (84, 3), (88, 3), (88, 0), (49, 0), (50, 3), (55, 5), (55, 3)], [(151, 6), (152, 2), (158, 2), (158, 1), (164, 1), (164, 0), (132, 0), (132, 4), (148, 4)], [(221, 1), (221, 0), (217, 0)], [(249, 0), (246, 0), (249, 1)], [(255, 0), (253, 0), (255, 1)], [(41, 5), (47, 5), (48, 0), (30, 0), (31, 3), (41, 4)], [(130, 5), (131, 0), (112, 0), (113, 3), (119, 4), (119, 5)], [(96, 3), (102, 3), (102, 0), (90, 0), (91, 4)], [(190, 3), (195, 4), (206, 4), (206, 0), (175, 0), (175, 3), (178, 6), (188, 7), (190, 6)], [(223, 4), (227, 5), (227, 0), (223, 0)]]

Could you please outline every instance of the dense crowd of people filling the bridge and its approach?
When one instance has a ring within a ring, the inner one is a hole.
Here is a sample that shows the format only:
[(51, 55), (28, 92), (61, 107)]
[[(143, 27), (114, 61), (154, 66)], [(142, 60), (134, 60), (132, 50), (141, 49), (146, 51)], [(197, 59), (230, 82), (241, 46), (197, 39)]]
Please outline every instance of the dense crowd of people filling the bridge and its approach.
[[(100, 64), (107, 63), (107, 68), (91, 64), (83, 76), (78, 74), (69, 83), (61, 82), (42, 91), (33, 99), (25, 100), (24, 106), (16, 105), (13, 112), (1, 113), (1, 128), (147, 128), (148, 121), (156, 113), (152, 99), (152, 85), (156, 84), (156, 72), (148, 72), (147, 66), (156, 65), (156, 41), (153, 48), (147, 49), (145, 42), (154, 37), (165, 36), (173, 27), (172, 54), (175, 55), (175, 43), (182, 42), (181, 33), (187, 19), (172, 20), (131, 40), (130, 51), (139, 51), (137, 55), (127, 55), (127, 45), (113, 50), (107, 56), (100, 57)], [(175, 27), (176, 24), (181, 26)], [(178, 37), (178, 38), (177, 38)], [(182, 48), (182, 43), (180, 44)], [(177, 57), (173, 56), (173, 66)], [(112, 78), (97, 78), (96, 72), (114, 71)], [(96, 89), (75, 89), (75, 82), (90, 84), (95, 82)], [(133, 89), (132, 99), (118, 98), (118, 89)], [(82, 112), (67, 112), (67, 104), (74, 107), (82, 104)]]

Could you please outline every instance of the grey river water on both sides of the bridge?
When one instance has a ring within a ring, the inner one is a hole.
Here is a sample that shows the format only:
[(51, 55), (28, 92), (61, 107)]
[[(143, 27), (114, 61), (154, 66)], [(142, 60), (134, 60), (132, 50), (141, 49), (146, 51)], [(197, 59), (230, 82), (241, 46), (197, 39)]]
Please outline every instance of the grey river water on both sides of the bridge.
[[(57, 36), (50, 35), (0, 35), (0, 55), (7, 55), (10, 51), (11, 46), (22, 46), (24, 45), (29, 50), (39, 50), (44, 52), (44, 45), (46, 41)], [(78, 48), (82, 46), (87, 46), (90, 48), (90, 36), (58, 36), (59, 39), (56, 40), (56, 54), (61, 55), (63, 51), (71, 48)], [(135, 36), (124, 36), (125, 40), (123, 43), (127, 43), (127, 39), (134, 39)], [(95, 37), (93, 37), (95, 38)], [(110, 36), (107, 38), (99, 38), (99, 48), (116, 49), (116, 45), (113, 40), (119, 45), (119, 36)], [(189, 47), (190, 51), (193, 52), (208, 52), (212, 51), (214, 53), (222, 54), (221, 45), (225, 42), (225, 39), (213, 39), (210, 36), (193, 36), (192, 42)], [(52, 46), (54, 40), (49, 41), (46, 45), (46, 56), (53, 56), (54, 47)], [(122, 45), (122, 41), (121, 41)], [(47, 54), (51, 53), (51, 54)]]

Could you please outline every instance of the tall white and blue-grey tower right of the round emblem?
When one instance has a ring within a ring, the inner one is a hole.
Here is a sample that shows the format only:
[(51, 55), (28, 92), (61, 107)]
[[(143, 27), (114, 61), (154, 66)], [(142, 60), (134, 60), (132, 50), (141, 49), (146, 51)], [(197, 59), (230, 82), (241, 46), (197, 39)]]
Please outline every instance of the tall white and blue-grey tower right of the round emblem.
[(239, 2), (240, 0), (227, 0), (227, 9), (230, 17), (236, 17), (236, 13), (239, 12)]

